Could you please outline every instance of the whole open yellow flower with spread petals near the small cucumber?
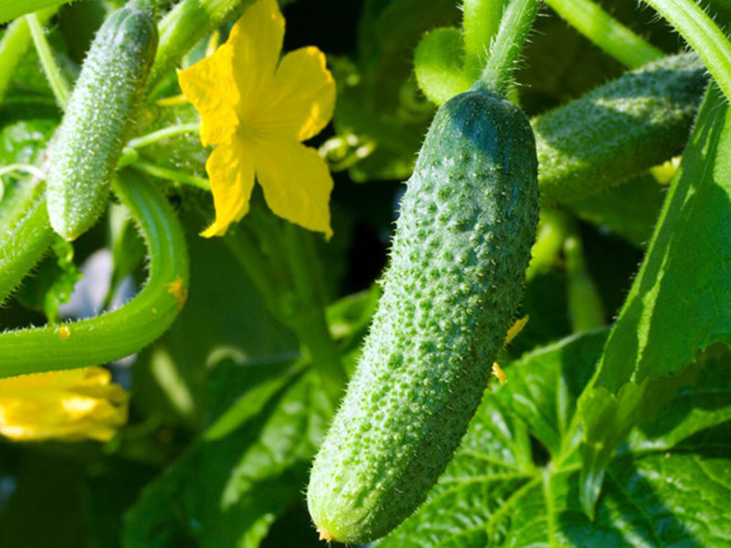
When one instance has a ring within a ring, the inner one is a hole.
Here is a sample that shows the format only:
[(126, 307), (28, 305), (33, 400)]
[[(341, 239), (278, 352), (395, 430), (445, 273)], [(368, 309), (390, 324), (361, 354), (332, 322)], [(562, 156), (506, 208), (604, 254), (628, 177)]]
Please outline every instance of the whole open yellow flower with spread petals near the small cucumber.
[(302, 141), (332, 118), (334, 79), (317, 47), (280, 60), (283, 37), (277, 2), (258, 0), (212, 56), (178, 72), (180, 88), (200, 113), (201, 142), (217, 145), (206, 163), (216, 220), (205, 237), (222, 236), (247, 214), (255, 177), (275, 214), (332, 235), (333, 179)]

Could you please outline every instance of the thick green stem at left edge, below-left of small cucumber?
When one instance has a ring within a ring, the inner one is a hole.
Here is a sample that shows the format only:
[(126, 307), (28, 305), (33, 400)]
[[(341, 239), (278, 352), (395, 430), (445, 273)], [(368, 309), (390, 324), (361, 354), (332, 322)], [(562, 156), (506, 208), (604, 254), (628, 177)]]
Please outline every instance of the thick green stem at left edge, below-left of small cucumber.
[(0, 216), (0, 303), (43, 257), (53, 242), (48, 222), (46, 184), (31, 180), (4, 204)]

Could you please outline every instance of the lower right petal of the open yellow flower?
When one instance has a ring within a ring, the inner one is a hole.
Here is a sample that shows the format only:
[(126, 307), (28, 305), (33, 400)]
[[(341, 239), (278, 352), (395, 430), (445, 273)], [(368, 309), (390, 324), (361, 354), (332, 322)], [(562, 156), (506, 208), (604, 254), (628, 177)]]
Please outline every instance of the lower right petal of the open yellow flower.
[(333, 235), (333, 178), (320, 154), (294, 140), (262, 136), (256, 147), (257, 178), (271, 210), (292, 223)]

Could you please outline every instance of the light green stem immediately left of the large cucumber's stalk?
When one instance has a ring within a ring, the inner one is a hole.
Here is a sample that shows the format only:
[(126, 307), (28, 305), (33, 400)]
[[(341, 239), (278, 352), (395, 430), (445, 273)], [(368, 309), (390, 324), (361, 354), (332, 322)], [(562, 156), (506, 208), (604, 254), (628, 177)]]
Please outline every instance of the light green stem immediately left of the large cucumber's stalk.
[(471, 79), (480, 78), (490, 42), (500, 29), (503, 0), (463, 0), (462, 37), (464, 68)]

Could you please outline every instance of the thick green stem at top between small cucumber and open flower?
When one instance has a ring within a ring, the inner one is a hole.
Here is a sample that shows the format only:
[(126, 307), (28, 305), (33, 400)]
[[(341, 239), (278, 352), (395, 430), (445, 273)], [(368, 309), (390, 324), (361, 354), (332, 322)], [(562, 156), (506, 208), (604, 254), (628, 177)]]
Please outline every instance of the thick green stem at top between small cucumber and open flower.
[(217, 26), (233, 19), (253, 0), (183, 0), (160, 21), (160, 41), (148, 90), (175, 68), (190, 49)]

